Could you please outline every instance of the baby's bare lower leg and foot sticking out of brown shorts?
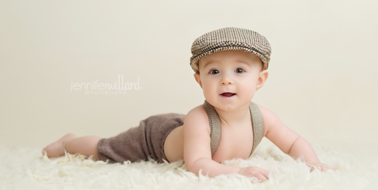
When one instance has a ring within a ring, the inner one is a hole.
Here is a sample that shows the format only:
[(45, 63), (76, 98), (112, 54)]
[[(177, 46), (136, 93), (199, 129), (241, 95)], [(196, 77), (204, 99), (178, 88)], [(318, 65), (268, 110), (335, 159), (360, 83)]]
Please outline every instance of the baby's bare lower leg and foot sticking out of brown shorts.
[(76, 138), (73, 133), (68, 133), (45, 147), (42, 154), (46, 152), (48, 157), (55, 158), (64, 156), (64, 149), (66, 149), (66, 152), (69, 154), (82, 154), (87, 157), (93, 156), (93, 159), (97, 161), (97, 143), (100, 139), (98, 136)]

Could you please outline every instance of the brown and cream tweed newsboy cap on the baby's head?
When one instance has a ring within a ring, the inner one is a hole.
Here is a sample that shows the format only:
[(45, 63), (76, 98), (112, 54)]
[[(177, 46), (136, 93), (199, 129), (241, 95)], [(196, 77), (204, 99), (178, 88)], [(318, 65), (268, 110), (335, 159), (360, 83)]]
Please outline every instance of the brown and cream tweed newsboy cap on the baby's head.
[(195, 39), (192, 45), (190, 66), (196, 73), (200, 73), (198, 60), (214, 52), (225, 50), (241, 50), (260, 57), (263, 68), (267, 69), (272, 49), (267, 38), (255, 31), (227, 27), (210, 31)]

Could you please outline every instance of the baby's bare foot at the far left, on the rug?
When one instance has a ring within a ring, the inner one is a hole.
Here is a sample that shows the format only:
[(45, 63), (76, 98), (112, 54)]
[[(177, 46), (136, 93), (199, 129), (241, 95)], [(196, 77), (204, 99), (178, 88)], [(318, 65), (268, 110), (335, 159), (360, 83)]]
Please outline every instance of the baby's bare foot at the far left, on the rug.
[(45, 147), (42, 151), (42, 155), (45, 155), (45, 152), (47, 153), (47, 156), (49, 158), (56, 158), (59, 156), (64, 156), (64, 145), (68, 140), (71, 140), (72, 138), (76, 138), (75, 134), (68, 133), (59, 140), (52, 142), (50, 145)]

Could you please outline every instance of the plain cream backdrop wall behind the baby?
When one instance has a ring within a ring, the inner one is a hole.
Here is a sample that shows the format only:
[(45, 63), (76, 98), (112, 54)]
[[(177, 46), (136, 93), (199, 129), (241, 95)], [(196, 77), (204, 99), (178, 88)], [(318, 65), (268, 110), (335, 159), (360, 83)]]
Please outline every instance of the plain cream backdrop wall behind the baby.
[[(258, 31), (272, 45), (253, 101), (311, 143), (378, 145), (377, 1), (0, 1), (0, 145), (68, 132), (115, 136), (204, 101), (189, 66), (198, 36)], [(71, 92), (71, 82), (141, 89)]]

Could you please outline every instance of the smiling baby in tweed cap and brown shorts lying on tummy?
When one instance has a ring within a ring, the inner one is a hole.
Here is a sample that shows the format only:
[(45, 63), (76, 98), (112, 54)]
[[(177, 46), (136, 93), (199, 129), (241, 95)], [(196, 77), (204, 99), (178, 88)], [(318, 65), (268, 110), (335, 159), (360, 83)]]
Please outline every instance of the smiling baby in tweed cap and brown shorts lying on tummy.
[(48, 157), (70, 154), (92, 156), (97, 161), (123, 163), (152, 157), (158, 163), (183, 159), (188, 171), (215, 177), (239, 173), (265, 181), (269, 172), (254, 166), (226, 166), (222, 161), (248, 159), (268, 138), (284, 153), (319, 170), (332, 170), (321, 163), (309, 142), (281, 122), (279, 117), (251, 102), (268, 77), (271, 47), (255, 31), (223, 28), (197, 38), (192, 45), (190, 66), (204, 92), (204, 104), (187, 115), (153, 115), (112, 138), (76, 137), (69, 133), (48, 145)]

